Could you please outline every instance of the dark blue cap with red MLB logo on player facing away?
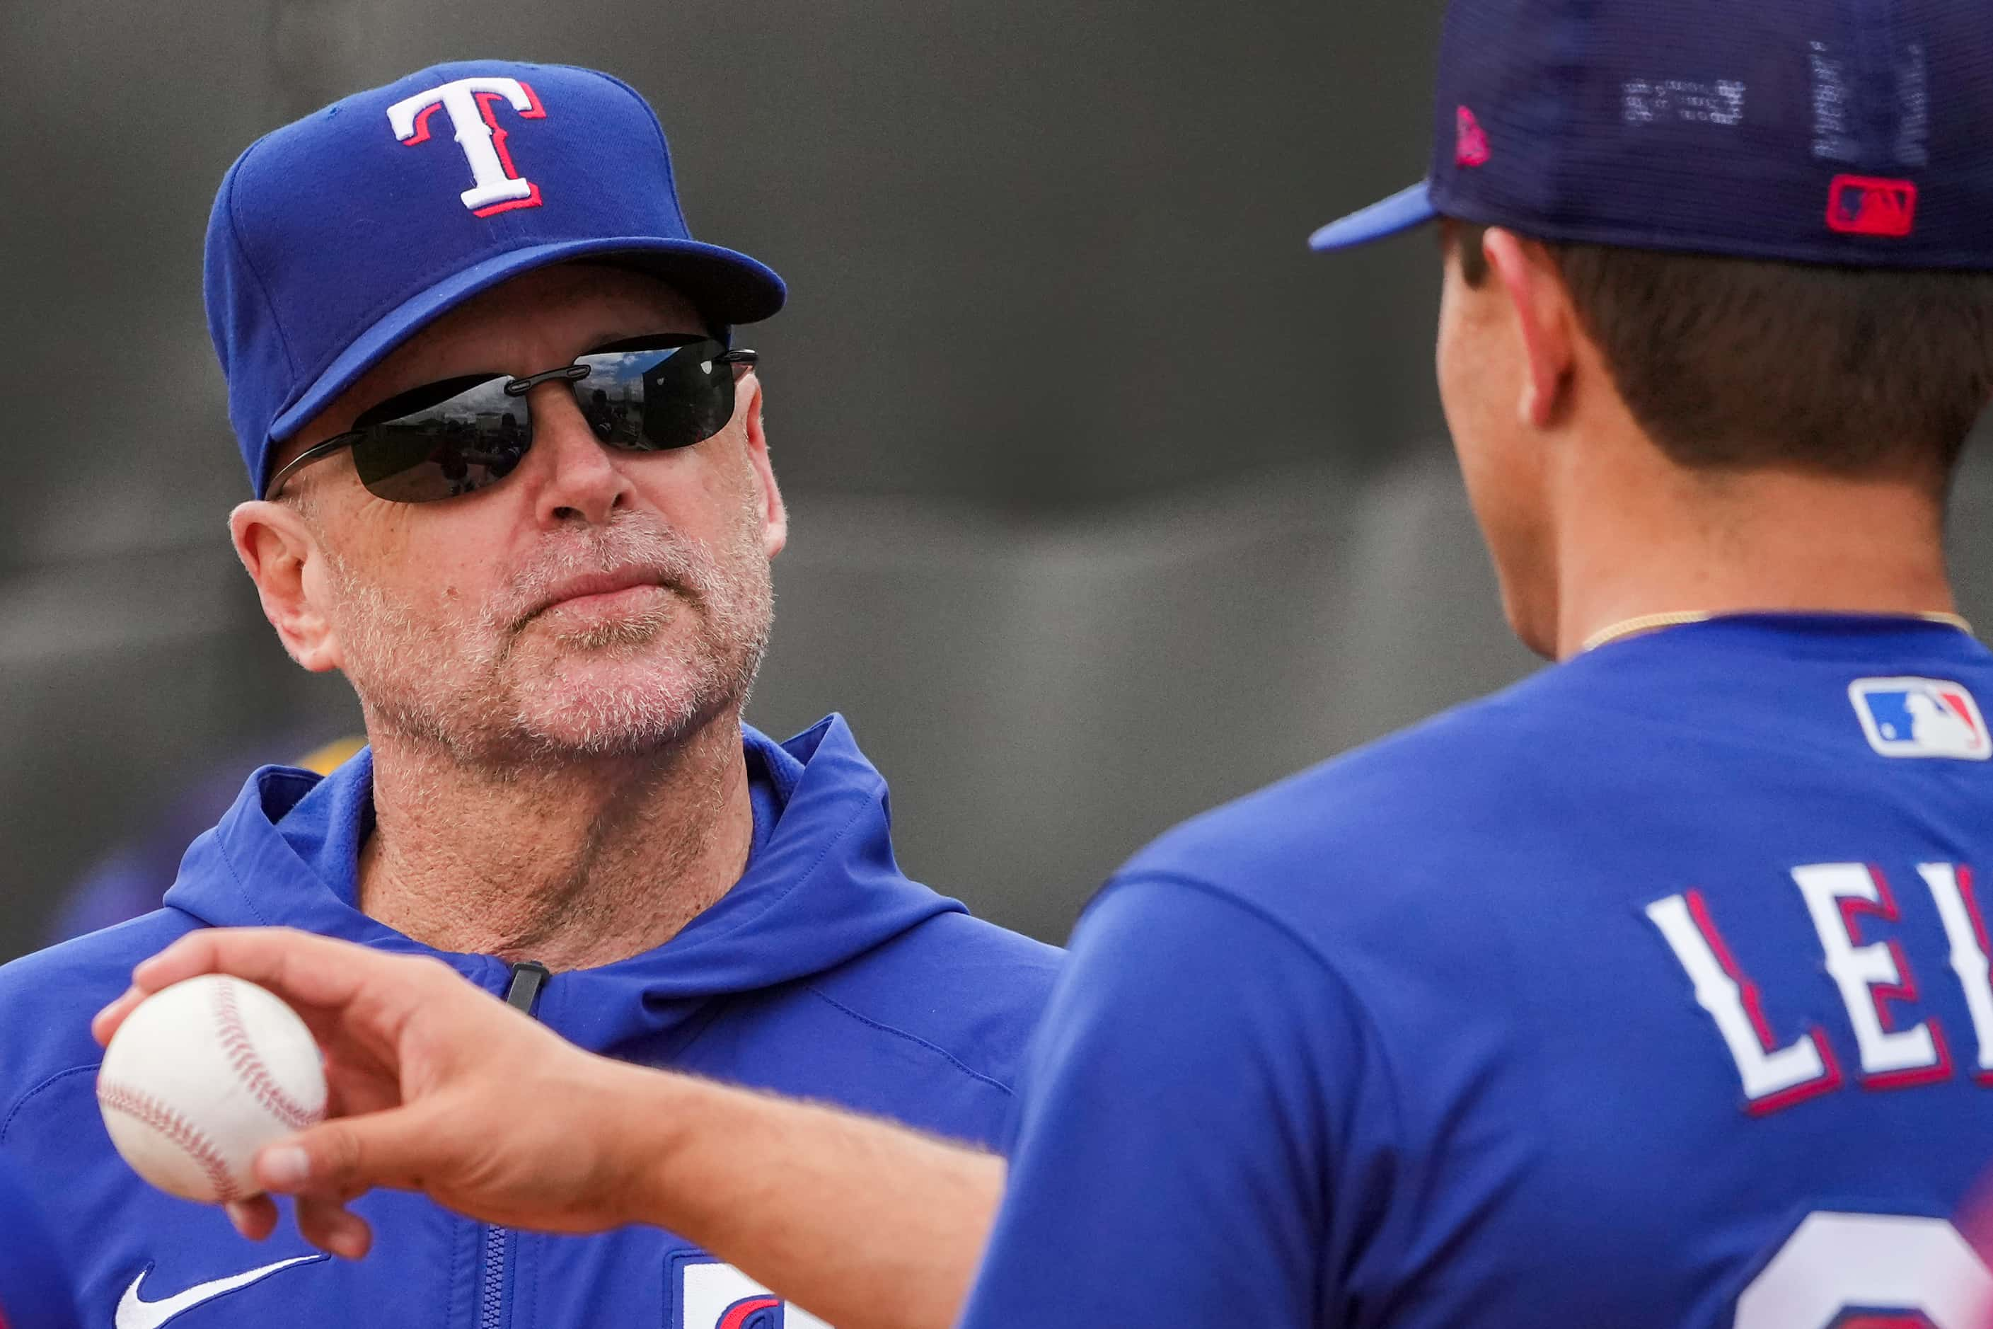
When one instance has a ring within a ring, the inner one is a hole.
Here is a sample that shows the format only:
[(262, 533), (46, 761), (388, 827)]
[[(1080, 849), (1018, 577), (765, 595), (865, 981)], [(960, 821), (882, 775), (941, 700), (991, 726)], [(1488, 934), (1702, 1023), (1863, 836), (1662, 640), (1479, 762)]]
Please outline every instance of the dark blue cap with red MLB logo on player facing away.
[(1973, 0), (1453, 0), (1427, 179), (1321, 227), (1993, 269)]

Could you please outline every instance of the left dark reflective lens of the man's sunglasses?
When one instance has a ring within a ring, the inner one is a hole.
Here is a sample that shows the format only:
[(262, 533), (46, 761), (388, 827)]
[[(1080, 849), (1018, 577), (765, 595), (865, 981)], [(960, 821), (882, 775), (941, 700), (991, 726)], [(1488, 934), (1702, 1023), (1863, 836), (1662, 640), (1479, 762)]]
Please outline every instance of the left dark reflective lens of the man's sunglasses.
[(504, 480), (532, 438), (526, 399), (506, 397), (504, 385), (504, 375), (446, 379), (361, 414), (361, 484), (395, 502), (436, 502)]

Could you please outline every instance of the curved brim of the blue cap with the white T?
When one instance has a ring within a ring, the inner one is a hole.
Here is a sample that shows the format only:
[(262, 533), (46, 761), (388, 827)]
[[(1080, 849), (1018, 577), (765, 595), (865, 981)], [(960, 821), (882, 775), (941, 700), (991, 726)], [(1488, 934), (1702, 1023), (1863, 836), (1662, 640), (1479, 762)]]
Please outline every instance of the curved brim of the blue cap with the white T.
[(311, 387), (295, 402), (283, 408), (269, 426), (271, 440), (277, 442), (295, 434), (311, 416), (325, 410), (335, 397), (359, 383), (361, 375), (387, 359), (395, 347), (472, 295), (488, 291), (508, 277), (568, 259), (612, 259), (656, 273), (684, 291), (686, 299), (715, 323), (759, 323), (777, 313), (787, 299), (781, 277), (769, 267), (749, 259), (745, 253), (721, 249), (719, 245), (702, 245), (696, 239), (620, 235), (512, 249), (510, 253), (500, 253), (494, 259), (444, 277), (375, 321), (373, 327), (355, 337), (339, 353), (339, 359), (311, 381)]

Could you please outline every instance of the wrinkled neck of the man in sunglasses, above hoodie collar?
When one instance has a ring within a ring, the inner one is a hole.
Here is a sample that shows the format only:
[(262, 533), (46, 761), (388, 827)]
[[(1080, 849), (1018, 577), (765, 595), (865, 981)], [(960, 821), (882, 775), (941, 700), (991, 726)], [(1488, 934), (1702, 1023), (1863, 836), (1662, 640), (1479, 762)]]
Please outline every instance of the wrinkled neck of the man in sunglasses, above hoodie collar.
[(737, 713), (662, 753), (502, 769), (371, 737), (361, 909), (425, 946), (554, 970), (608, 964), (662, 946), (747, 865)]

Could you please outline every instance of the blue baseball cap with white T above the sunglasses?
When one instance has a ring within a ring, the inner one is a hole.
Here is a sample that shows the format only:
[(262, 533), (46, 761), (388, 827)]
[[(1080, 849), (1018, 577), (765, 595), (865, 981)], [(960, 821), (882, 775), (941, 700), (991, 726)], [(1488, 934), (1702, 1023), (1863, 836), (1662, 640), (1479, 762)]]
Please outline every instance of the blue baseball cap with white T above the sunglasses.
[(781, 309), (781, 277), (686, 231), (672, 153), (622, 80), (438, 64), (249, 145), (207, 221), (207, 331), (263, 492), (273, 444), (436, 317), (508, 277), (610, 259), (712, 323)]

